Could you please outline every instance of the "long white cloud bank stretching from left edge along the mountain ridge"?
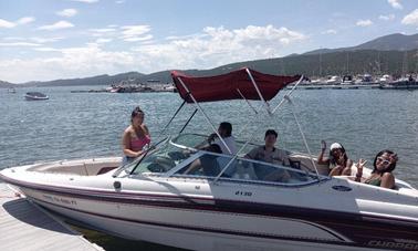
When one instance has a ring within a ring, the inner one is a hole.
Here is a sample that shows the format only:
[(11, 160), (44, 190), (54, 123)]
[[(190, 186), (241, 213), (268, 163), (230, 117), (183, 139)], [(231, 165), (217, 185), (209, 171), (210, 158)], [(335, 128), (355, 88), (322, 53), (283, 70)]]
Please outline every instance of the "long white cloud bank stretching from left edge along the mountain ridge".
[[(149, 27), (125, 27), (121, 31), (125, 32), (126, 39), (151, 36)], [(284, 55), (288, 54), (286, 48), (306, 39), (306, 35), (288, 28), (249, 25), (236, 30), (208, 27), (197, 34), (171, 36), (158, 44), (151, 40), (140, 41), (135, 48), (126, 48), (128, 51), (106, 51), (105, 43), (111, 42), (107, 36), (80, 48), (54, 49), (41, 44), (32, 50), (51, 53), (24, 60), (0, 59), (0, 75), (4, 81), (21, 83), (127, 71), (149, 73), (167, 69), (210, 69)]]

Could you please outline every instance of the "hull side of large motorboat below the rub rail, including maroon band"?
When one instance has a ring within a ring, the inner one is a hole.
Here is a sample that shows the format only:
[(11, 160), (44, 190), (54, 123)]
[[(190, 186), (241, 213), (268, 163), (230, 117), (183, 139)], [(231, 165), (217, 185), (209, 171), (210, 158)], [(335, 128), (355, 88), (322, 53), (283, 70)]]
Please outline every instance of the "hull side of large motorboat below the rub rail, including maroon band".
[(164, 194), (31, 185), (18, 189), (101, 231), (191, 250), (418, 249), (418, 223), (407, 220)]

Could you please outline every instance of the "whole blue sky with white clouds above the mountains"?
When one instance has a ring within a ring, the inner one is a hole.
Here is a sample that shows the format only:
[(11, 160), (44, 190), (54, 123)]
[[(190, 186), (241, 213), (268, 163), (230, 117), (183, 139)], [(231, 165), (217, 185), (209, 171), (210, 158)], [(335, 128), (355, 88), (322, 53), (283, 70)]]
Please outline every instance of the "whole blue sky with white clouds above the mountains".
[(418, 33), (417, 0), (0, 0), (0, 80), (222, 64)]

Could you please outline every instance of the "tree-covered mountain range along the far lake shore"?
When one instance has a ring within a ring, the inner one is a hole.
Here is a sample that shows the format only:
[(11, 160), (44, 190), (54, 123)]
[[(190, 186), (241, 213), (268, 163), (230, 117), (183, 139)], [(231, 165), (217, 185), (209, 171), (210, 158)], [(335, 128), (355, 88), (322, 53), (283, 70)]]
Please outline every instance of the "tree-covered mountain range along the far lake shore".
[[(389, 34), (356, 46), (320, 49), (303, 54), (284, 57), (231, 63), (211, 70), (184, 70), (186, 74), (203, 76), (227, 73), (240, 67), (251, 67), (269, 74), (304, 74), (306, 76), (343, 74), (394, 74), (418, 72), (418, 33), (405, 35)], [(148, 80), (170, 83), (170, 72), (151, 74), (127, 72), (117, 75), (97, 75), (84, 79), (55, 80), (12, 84), (0, 81), (0, 87), (12, 86), (69, 86), (69, 85), (111, 85), (122, 81), (145, 83)]]

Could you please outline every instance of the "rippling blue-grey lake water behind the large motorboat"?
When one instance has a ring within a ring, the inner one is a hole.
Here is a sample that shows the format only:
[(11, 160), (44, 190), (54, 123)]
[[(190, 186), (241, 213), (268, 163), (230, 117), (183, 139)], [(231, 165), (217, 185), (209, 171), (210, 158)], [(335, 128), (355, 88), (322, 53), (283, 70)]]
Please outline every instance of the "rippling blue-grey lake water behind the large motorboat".
[[(156, 140), (181, 104), (176, 93), (71, 93), (91, 88), (100, 87), (17, 88), (17, 94), (0, 90), (0, 169), (41, 160), (122, 155), (121, 136), (135, 106), (145, 111)], [(45, 93), (50, 100), (24, 101), (29, 91)], [(349, 158), (366, 158), (370, 167), (376, 153), (393, 149), (399, 157), (396, 177), (418, 187), (418, 91), (306, 90), (295, 91), (291, 98), (313, 154), (318, 153), (321, 139), (328, 146), (339, 142)], [(260, 108), (258, 102), (251, 105)], [(274, 128), (280, 134), (279, 147), (306, 153), (288, 103), (273, 118), (265, 113), (254, 115), (243, 101), (203, 103), (202, 107), (216, 126), (231, 122), (236, 137), (253, 136), (262, 143), (265, 129)], [(176, 134), (194, 108), (186, 105), (167, 133)], [(186, 130), (211, 133), (199, 113)]]

